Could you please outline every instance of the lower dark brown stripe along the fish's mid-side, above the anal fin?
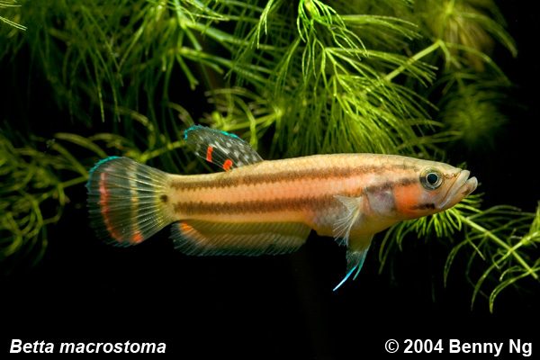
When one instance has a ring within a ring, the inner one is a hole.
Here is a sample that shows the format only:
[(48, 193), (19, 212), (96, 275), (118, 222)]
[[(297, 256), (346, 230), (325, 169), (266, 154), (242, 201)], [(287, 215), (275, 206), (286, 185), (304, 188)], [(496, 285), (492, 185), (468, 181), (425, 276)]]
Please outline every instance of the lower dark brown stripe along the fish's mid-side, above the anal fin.
[(267, 213), (329, 208), (335, 202), (333, 195), (299, 197), (291, 199), (253, 200), (247, 202), (176, 202), (175, 212), (188, 215), (211, 213)]

